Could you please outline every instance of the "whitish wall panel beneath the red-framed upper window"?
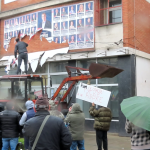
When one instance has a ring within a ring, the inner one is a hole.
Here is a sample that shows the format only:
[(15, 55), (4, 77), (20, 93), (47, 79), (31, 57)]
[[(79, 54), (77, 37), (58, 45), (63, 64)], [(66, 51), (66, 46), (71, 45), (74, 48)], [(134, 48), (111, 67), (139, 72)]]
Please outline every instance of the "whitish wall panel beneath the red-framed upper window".
[(123, 23), (95, 28), (95, 50), (120, 48), (122, 43), (117, 46), (114, 42), (121, 39), (123, 39)]

